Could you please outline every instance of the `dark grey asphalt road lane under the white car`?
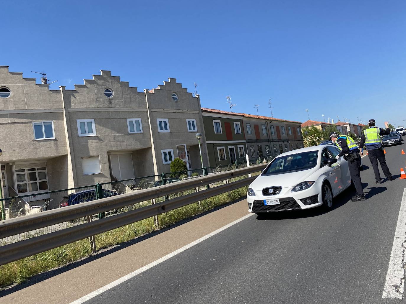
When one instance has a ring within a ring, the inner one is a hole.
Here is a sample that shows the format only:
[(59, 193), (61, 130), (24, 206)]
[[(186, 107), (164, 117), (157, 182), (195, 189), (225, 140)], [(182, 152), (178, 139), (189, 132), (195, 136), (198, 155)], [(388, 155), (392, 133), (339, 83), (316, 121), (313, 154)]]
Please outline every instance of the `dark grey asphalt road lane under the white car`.
[(350, 188), (329, 212), (250, 216), (86, 303), (403, 303), (382, 292), (405, 147), (385, 148), (396, 179), (380, 185), (363, 158), (366, 201), (350, 201)]

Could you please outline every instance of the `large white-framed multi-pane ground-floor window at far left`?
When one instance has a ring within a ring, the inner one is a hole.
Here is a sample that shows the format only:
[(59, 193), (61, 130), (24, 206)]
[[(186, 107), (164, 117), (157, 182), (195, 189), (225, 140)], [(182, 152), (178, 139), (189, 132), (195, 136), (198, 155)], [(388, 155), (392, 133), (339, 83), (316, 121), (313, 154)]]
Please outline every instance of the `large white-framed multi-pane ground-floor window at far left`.
[[(41, 165), (45, 165), (45, 163)], [(35, 166), (35, 164), (33, 164), (33, 166)], [(35, 166), (16, 169), (15, 178), (17, 180), (18, 193), (28, 194), (48, 190), (47, 171), (45, 167)]]

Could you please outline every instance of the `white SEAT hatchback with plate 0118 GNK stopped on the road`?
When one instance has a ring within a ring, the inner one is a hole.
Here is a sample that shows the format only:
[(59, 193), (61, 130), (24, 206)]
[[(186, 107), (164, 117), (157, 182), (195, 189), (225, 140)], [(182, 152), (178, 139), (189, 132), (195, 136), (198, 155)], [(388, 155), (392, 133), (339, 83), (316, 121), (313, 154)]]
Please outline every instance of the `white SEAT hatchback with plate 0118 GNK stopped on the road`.
[(333, 206), (333, 198), (351, 185), (348, 163), (335, 158), (331, 145), (280, 154), (251, 183), (248, 211), (264, 212)]

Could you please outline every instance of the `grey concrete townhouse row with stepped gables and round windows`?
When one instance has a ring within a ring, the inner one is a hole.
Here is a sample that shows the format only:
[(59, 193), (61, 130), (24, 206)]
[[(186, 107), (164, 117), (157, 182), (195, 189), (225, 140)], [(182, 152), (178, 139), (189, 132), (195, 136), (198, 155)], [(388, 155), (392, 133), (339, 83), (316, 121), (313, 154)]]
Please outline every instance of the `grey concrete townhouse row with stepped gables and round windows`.
[(176, 79), (138, 92), (110, 71), (74, 90), (0, 66), (0, 156), (4, 197), (30, 195), (208, 165), (199, 97)]

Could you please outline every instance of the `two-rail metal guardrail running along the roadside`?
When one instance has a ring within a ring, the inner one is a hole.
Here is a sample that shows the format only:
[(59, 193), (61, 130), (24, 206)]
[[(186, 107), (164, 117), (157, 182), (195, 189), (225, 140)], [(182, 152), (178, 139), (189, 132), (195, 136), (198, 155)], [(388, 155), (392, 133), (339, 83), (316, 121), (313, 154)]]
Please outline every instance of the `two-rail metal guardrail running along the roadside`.
[[(104, 199), (98, 199), (96, 201), (84, 202), (37, 214), (11, 218), (9, 220), (0, 222), (0, 239), (11, 235), (16, 235), (18, 233), (34, 231), (50, 225), (63, 223), (65, 221), (75, 220), (77, 218), (91, 218), (92, 214), (123, 208), (125, 206), (143, 201), (154, 200), (158, 197), (165, 197), (167, 195), (187, 191), (193, 188), (199, 188), (200, 186), (205, 186), (215, 182), (224, 180), (227, 181), (232, 178), (262, 171), (267, 165), (268, 164), (261, 164), (252, 167), (219, 172), (209, 176), (203, 176), (173, 184), (166, 184), (164, 186), (140, 190), (134, 193), (107, 197)], [(87, 223), (74, 227), (35, 236), (33, 238), (15, 242), (13, 244), (0, 246), (0, 265), (17, 261), (18, 259), (29, 257), (31, 255), (35, 255), (37, 253), (41, 253), (85, 238), (91, 237), (94, 239), (94, 235), (99, 233), (135, 223), (137, 221), (141, 221), (152, 216), (157, 216), (158, 214), (162, 214), (170, 210), (201, 201), (203, 199), (214, 197), (221, 193), (247, 186), (255, 178), (256, 177), (253, 176), (244, 178), (242, 180), (237, 180), (235, 182), (228, 182), (220, 186), (207, 188), (203, 191), (175, 197), (159, 203), (153, 203), (150, 206), (141, 207), (136, 210), (101, 218), (97, 221), (88, 221)]]

